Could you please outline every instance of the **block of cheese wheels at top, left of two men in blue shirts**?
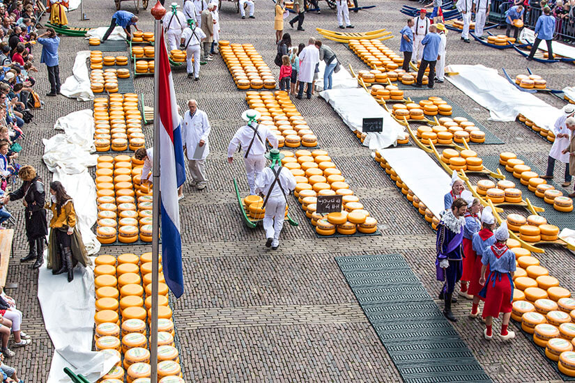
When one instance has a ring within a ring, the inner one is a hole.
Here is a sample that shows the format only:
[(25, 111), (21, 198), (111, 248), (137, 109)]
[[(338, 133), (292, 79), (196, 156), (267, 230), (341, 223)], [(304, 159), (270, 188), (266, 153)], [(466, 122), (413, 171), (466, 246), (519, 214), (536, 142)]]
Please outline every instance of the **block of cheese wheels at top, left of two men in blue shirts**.
[(381, 40), (349, 40), (349, 49), (357, 54), (369, 68), (383, 72), (396, 70), (404, 63), (404, 58), (383, 45)]

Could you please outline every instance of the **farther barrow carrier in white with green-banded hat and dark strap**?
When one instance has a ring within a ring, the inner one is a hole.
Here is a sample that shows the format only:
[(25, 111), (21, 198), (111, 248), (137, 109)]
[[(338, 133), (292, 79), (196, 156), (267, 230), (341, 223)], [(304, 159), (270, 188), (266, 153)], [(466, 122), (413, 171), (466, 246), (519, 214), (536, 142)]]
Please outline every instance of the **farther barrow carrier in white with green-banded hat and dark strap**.
[(253, 109), (247, 109), (242, 114), (243, 120), (247, 121), (246, 125), (240, 127), (233, 134), (228, 146), (228, 162), (233, 162), (233, 153), (238, 146), (243, 149), (243, 161), (245, 164), (245, 174), (247, 176), (247, 185), (250, 187), (250, 194), (256, 194), (256, 178), (266, 166), (266, 140), (270, 141), (273, 148), (277, 149), (276, 136), (266, 127), (259, 125), (257, 120), (261, 118), (261, 113)]

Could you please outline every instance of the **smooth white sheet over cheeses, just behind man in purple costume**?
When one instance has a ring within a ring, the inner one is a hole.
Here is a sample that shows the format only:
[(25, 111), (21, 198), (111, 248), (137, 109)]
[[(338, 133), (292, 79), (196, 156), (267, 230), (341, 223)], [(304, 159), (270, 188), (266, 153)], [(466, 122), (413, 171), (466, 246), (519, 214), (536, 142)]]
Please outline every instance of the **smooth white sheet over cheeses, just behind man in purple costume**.
[(379, 153), (399, 175), (401, 182), (439, 218), (445, 210), (443, 196), (451, 190), (451, 177), (419, 148), (391, 148)]

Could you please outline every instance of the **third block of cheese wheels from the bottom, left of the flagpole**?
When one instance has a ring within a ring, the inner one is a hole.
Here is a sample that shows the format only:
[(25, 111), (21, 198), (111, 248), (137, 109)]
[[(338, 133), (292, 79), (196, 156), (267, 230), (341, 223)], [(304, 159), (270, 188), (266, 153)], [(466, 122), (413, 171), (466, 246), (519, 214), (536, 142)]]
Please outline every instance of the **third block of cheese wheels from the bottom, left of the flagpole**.
[(94, 109), (94, 144), (96, 151), (137, 150), (146, 141), (141, 130), (141, 113), (135, 93), (96, 97)]

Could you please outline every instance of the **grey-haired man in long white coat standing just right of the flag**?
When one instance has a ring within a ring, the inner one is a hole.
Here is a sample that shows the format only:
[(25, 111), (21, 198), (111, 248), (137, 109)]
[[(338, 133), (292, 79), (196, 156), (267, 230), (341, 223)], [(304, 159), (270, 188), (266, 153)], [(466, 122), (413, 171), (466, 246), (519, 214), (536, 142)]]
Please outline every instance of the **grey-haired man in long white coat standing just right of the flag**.
[(187, 101), (188, 111), (184, 114), (183, 145), (187, 155), (187, 167), (192, 175), (192, 186), (205, 189), (208, 183), (206, 176), (206, 157), (210, 154), (210, 122), (205, 111), (198, 109), (196, 100)]

